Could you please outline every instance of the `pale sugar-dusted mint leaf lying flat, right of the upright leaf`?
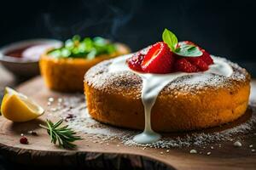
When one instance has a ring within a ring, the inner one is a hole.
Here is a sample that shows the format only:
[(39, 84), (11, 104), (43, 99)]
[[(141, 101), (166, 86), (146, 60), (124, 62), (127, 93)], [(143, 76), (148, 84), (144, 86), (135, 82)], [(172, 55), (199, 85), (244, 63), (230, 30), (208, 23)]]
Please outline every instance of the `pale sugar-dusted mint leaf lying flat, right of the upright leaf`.
[(179, 43), (179, 47), (175, 49), (174, 53), (183, 57), (199, 57), (202, 55), (201, 50), (195, 45)]

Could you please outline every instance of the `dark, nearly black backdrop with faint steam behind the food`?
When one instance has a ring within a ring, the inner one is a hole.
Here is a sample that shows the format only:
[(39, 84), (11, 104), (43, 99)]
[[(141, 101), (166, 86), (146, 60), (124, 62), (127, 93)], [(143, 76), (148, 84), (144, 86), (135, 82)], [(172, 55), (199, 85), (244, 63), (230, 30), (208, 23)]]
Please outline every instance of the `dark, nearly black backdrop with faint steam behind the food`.
[[(3, 3), (3, 2), (1, 2)], [(252, 69), (256, 1), (5, 1), (0, 10), (0, 46), (21, 39), (74, 34), (127, 43), (133, 51), (161, 40), (164, 28), (211, 54)]]

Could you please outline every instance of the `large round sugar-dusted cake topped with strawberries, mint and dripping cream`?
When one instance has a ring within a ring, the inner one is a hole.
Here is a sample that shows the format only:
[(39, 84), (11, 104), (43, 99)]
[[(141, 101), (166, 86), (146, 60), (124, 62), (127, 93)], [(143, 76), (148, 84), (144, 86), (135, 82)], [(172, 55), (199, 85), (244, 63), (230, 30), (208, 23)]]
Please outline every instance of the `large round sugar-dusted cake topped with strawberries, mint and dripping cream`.
[[(172, 46), (164, 34), (164, 42), (90, 68), (84, 76), (90, 116), (117, 127), (144, 129), (143, 138), (219, 126), (242, 116), (250, 94), (248, 72), (193, 42)], [(179, 47), (195, 51), (177, 52)]]

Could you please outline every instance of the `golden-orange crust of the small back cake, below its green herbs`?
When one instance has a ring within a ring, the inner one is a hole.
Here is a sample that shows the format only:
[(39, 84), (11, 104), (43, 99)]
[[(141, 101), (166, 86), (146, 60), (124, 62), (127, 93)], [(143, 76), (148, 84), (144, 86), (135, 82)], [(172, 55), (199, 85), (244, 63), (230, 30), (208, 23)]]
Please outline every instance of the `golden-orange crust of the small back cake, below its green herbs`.
[(122, 54), (128, 54), (130, 49), (118, 44), (118, 51), (111, 55), (100, 55), (95, 59), (55, 59), (47, 54), (42, 55), (39, 65), (41, 75), (49, 89), (61, 92), (82, 92), (84, 89), (84, 73), (91, 66), (105, 59), (111, 59)]

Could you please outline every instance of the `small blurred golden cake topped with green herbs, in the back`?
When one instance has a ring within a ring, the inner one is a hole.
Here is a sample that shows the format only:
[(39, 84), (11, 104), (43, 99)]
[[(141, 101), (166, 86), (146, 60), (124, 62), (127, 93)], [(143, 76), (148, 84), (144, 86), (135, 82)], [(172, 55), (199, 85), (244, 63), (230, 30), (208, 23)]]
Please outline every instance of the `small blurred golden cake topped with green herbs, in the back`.
[(83, 92), (84, 73), (104, 59), (128, 54), (130, 49), (121, 43), (73, 37), (61, 48), (47, 51), (39, 65), (44, 82), (49, 89), (61, 92)]

